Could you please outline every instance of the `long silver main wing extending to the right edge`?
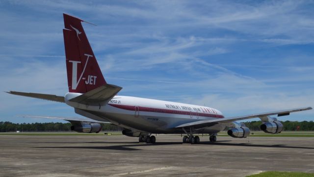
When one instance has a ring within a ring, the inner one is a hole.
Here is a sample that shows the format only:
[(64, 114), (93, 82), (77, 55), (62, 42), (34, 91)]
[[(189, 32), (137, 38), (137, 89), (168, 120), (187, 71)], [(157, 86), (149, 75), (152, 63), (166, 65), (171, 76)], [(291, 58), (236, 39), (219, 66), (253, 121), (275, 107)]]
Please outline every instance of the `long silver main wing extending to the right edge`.
[(247, 115), (247, 116), (238, 116), (238, 117), (232, 117), (232, 118), (217, 118), (217, 119), (212, 119), (212, 120), (199, 120), (199, 121), (194, 121), (194, 122), (190, 122), (190, 123), (184, 123), (184, 124), (176, 126), (175, 128), (192, 127), (192, 126), (201, 128), (201, 127), (211, 126), (211, 125), (217, 124), (217, 123), (230, 123), (232, 121), (243, 120), (243, 119), (248, 119), (248, 118), (265, 118), (267, 116), (272, 116), (272, 115), (288, 116), (290, 113), (293, 113), (293, 112), (305, 111), (305, 110), (311, 110), (311, 109), (312, 109), (312, 107), (305, 107), (305, 108), (295, 108), (295, 109), (288, 109), (288, 110), (282, 110), (282, 111), (272, 111), (272, 112), (253, 114), (253, 115)]

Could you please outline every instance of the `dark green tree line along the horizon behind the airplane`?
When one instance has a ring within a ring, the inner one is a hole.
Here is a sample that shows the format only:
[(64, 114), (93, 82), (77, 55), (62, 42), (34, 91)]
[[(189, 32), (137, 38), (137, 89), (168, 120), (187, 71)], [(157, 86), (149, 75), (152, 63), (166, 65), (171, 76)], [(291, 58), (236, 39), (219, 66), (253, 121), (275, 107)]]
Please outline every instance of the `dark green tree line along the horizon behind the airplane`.
[[(243, 122), (251, 131), (260, 131), (260, 126), (262, 121), (248, 121)], [(314, 131), (313, 121), (283, 121), (284, 131)], [(123, 128), (102, 123), (102, 131), (122, 131)], [(228, 130), (228, 129), (226, 129)], [(50, 123), (12, 123), (8, 121), (0, 122), (0, 132), (67, 132), (71, 131), (71, 123), (60, 123), (60, 122), (50, 122)]]

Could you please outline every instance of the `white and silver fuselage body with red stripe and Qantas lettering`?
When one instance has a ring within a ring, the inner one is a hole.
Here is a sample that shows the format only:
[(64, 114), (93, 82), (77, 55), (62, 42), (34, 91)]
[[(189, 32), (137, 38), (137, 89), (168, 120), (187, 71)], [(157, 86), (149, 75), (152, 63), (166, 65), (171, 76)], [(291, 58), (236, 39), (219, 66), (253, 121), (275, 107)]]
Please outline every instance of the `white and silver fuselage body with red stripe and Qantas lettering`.
[[(93, 115), (92, 117), (88, 114), (83, 116), (100, 121), (110, 121), (124, 128), (148, 133), (183, 133), (181, 128), (174, 127), (198, 120), (224, 118), (220, 111), (206, 106), (131, 96), (116, 95), (105, 106), (90, 106), (69, 101), (79, 95), (81, 93), (69, 92), (65, 95), (65, 102)], [(196, 129), (194, 132), (217, 133), (224, 128), (225, 125), (214, 124)]]

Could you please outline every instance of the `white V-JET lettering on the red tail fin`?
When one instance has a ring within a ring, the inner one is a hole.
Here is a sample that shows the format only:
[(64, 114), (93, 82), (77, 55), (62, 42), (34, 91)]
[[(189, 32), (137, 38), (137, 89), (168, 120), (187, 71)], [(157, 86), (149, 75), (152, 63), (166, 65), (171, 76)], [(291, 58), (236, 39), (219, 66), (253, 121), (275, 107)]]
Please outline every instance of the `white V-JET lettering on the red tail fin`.
[[(88, 63), (88, 59), (90, 57), (93, 57), (93, 56), (92, 55), (88, 55), (88, 54), (84, 54), (84, 56), (86, 56), (87, 59), (86, 59), (83, 71), (80, 74), (79, 78), (78, 78), (78, 63), (81, 63), (81, 62), (80, 61), (69, 60), (69, 62), (72, 62), (72, 87), (71, 87), (71, 89), (77, 89), (79, 81), (81, 79), (86, 80), (86, 78), (82, 78), (82, 76), (83, 76), (83, 74), (85, 72), (85, 69), (86, 69), (86, 66), (87, 66), (87, 63)], [(97, 76), (88, 75), (88, 79), (84, 83), (86, 85), (95, 85), (96, 84), (96, 78), (97, 78)]]

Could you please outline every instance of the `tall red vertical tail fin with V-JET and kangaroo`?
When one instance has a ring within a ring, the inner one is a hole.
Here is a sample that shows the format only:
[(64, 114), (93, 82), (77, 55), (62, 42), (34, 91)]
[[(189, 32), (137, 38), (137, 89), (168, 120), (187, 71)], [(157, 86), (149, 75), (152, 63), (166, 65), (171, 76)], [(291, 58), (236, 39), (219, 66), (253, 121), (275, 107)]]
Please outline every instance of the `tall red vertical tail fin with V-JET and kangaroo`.
[(67, 14), (64, 18), (64, 47), (69, 92), (85, 93), (106, 84), (80, 20)]

